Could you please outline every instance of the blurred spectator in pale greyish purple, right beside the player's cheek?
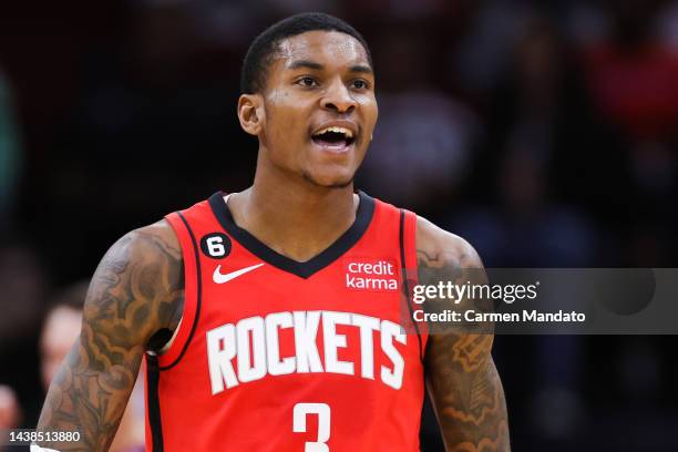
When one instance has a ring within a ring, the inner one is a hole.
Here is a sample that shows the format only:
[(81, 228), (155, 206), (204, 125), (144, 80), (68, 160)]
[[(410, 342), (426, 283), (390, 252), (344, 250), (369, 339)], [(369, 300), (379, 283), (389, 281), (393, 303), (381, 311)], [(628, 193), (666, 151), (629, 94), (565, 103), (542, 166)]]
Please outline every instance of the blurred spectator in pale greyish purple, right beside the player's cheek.
[[(363, 186), (376, 196), (388, 193), (393, 204), (419, 205), (427, 212), (443, 208), (440, 198), (463, 182), (477, 119), (434, 90), (383, 94), (379, 106), (379, 125), (362, 168)], [(412, 115), (413, 111), (422, 114)]]

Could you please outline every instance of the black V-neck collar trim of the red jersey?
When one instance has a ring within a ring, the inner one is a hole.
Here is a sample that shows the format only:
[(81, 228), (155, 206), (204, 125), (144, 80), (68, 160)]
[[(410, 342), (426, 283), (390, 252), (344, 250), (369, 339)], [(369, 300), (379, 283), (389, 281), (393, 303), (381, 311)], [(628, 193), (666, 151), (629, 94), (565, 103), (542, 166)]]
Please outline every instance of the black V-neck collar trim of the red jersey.
[(360, 204), (353, 224), (332, 245), (305, 263), (282, 256), (239, 227), (224, 202), (224, 193), (217, 192), (212, 195), (209, 206), (222, 227), (251, 254), (274, 267), (306, 279), (341, 257), (356, 245), (370, 226), (374, 214), (374, 199), (363, 192), (358, 192), (358, 196), (360, 197)]

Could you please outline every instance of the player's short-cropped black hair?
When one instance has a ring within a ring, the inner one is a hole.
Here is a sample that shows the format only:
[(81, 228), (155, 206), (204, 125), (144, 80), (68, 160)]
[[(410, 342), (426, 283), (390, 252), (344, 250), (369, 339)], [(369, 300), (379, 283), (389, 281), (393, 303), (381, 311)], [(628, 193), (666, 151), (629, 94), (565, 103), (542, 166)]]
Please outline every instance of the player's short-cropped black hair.
[(304, 12), (274, 23), (255, 38), (243, 61), (240, 91), (244, 94), (255, 94), (264, 91), (268, 69), (278, 51), (280, 41), (307, 31), (317, 30), (338, 31), (356, 38), (364, 48), (368, 61), (372, 65), (370, 49), (364, 38), (355, 28), (333, 16), (322, 12)]

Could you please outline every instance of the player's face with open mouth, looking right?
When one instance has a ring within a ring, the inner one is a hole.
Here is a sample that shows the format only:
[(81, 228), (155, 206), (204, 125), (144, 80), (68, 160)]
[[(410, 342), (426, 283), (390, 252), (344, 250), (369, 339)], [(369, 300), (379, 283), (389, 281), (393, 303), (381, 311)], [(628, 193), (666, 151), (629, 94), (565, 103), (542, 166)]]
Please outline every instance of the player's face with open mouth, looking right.
[(362, 44), (345, 33), (282, 40), (263, 93), (263, 157), (316, 185), (350, 184), (377, 122), (368, 61)]

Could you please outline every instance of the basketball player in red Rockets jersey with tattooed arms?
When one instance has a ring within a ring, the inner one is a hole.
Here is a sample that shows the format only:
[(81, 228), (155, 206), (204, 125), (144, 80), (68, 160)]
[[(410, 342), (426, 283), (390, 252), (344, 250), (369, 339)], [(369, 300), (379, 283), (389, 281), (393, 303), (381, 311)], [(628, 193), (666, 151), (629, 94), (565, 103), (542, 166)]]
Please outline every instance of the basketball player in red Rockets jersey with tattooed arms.
[(353, 193), (377, 122), (362, 37), (326, 14), (278, 22), (242, 92), (254, 184), (107, 251), (39, 423), (82, 441), (42, 445), (106, 450), (145, 358), (150, 451), (418, 451), (424, 386), (448, 450), (507, 451), (492, 336), (401, 328), (401, 269), (442, 280), (480, 258)]

